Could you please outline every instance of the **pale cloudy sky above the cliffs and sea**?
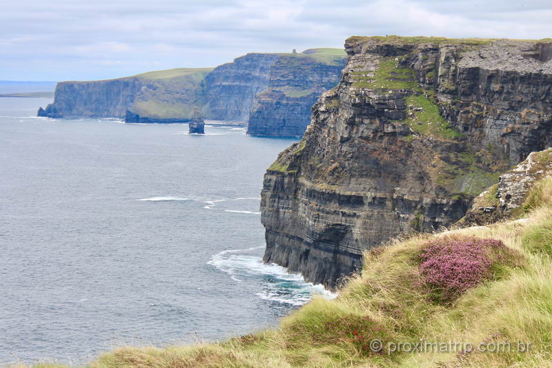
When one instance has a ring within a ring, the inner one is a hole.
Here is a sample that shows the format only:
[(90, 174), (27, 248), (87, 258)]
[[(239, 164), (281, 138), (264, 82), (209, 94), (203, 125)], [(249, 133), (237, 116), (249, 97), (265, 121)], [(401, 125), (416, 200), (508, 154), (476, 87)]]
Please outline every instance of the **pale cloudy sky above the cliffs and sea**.
[(205, 68), (353, 35), (552, 37), (550, 0), (1, 0), (0, 80)]

